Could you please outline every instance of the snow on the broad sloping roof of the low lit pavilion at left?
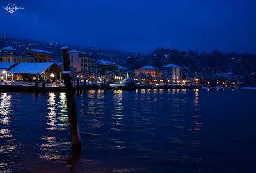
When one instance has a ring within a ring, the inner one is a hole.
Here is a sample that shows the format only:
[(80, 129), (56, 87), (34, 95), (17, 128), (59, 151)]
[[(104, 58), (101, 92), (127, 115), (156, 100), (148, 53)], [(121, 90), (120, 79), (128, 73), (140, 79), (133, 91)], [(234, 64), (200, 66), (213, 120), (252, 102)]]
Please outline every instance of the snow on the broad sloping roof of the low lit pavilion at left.
[(8, 73), (18, 73), (18, 74), (33, 74), (40, 75), (45, 70), (50, 68), (54, 63), (20, 63), (14, 68), (12, 68)]

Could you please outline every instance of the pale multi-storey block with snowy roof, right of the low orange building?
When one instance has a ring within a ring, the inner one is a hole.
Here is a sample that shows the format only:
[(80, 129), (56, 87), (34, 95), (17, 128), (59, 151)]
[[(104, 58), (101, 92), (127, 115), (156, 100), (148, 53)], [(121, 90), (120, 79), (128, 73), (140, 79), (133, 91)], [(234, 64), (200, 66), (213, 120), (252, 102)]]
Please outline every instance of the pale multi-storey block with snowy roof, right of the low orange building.
[(165, 78), (170, 78), (172, 80), (182, 79), (182, 68), (180, 66), (168, 64), (161, 69), (163, 71), (163, 77)]

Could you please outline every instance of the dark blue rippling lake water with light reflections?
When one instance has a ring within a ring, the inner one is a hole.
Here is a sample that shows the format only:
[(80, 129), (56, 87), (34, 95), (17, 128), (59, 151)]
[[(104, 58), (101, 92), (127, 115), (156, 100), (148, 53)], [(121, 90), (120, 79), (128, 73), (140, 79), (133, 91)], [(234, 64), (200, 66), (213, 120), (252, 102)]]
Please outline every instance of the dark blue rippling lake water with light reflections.
[(0, 93), (0, 172), (255, 172), (256, 90)]

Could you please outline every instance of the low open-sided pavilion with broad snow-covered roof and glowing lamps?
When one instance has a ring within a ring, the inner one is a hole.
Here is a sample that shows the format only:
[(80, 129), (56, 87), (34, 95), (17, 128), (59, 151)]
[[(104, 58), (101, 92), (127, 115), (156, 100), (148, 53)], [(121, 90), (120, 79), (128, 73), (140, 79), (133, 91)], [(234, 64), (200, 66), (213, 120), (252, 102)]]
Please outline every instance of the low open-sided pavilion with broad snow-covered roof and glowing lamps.
[(61, 78), (61, 68), (56, 63), (20, 63), (8, 71), (12, 80), (35, 80), (39, 79), (56, 80)]

